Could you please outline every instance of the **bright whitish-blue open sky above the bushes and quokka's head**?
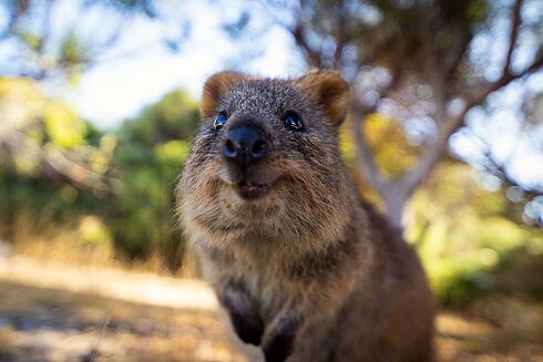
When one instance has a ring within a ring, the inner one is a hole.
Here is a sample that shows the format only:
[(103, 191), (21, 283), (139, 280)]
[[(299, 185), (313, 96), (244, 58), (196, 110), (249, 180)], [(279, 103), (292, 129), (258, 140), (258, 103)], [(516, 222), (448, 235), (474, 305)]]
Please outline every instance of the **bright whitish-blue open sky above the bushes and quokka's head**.
[[(235, 54), (239, 46), (221, 29), (225, 19), (238, 14), (237, 9), (225, 7), (229, 13), (216, 9), (217, 3), (213, 1), (184, 4), (183, 11), (191, 14), (192, 31), (181, 43), (178, 53), (167, 51), (160, 41), (167, 31), (164, 23), (143, 18), (132, 20), (121, 41), (110, 50), (112, 58), (120, 53), (130, 53), (130, 56), (105, 61), (85, 72), (76, 85), (53, 92), (104, 130), (117, 126), (171, 90), (182, 87), (195, 99), (199, 97), (209, 75), (223, 70), (229, 58), (243, 59), (243, 54)], [(248, 42), (246, 45), (250, 46), (250, 40)], [(305, 66), (293, 53), (291, 45), (291, 39), (283, 29), (273, 28), (255, 44), (262, 46), (263, 54), (247, 56), (246, 63), (242, 61), (240, 65), (247, 72), (267, 76), (301, 74)], [(103, 58), (107, 59), (107, 54)]]

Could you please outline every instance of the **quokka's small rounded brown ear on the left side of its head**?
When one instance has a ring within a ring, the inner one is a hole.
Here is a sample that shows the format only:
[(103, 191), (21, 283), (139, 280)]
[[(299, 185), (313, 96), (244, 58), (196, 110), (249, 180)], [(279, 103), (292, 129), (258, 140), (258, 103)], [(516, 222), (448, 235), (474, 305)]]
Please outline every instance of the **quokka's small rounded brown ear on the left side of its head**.
[(211, 114), (216, 108), (221, 97), (244, 79), (243, 74), (232, 71), (223, 71), (209, 76), (204, 84), (204, 92), (202, 93), (202, 115)]

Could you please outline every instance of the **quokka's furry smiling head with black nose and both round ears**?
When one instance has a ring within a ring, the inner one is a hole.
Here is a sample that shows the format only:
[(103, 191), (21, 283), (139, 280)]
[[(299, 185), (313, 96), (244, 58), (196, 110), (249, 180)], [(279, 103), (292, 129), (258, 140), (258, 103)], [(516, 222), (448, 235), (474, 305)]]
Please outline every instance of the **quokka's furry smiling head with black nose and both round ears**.
[(348, 84), (330, 71), (211, 76), (180, 185), (185, 217), (225, 231), (250, 223), (301, 232), (334, 214), (345, 188), (337, 131), (348, 102)]

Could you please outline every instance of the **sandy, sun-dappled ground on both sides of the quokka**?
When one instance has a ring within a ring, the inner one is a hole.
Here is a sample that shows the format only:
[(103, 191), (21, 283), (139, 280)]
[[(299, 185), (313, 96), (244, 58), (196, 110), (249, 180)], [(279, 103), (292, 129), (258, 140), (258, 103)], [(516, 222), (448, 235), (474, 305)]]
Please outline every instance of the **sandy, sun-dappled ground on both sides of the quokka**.
[[(0, 361), (247, 361), (224, 325), (196, 280), (0, 259)], [(543, 362), (533, 334), (444, 311), (439, 361)]]

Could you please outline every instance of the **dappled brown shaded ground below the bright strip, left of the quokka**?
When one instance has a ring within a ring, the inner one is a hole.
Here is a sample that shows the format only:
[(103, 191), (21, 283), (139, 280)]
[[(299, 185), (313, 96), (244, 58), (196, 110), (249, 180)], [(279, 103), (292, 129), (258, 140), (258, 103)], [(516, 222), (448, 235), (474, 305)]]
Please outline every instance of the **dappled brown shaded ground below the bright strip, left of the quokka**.
[(228, 342), (216, 312), (0, 282), (0, 361), (243, 361)]

